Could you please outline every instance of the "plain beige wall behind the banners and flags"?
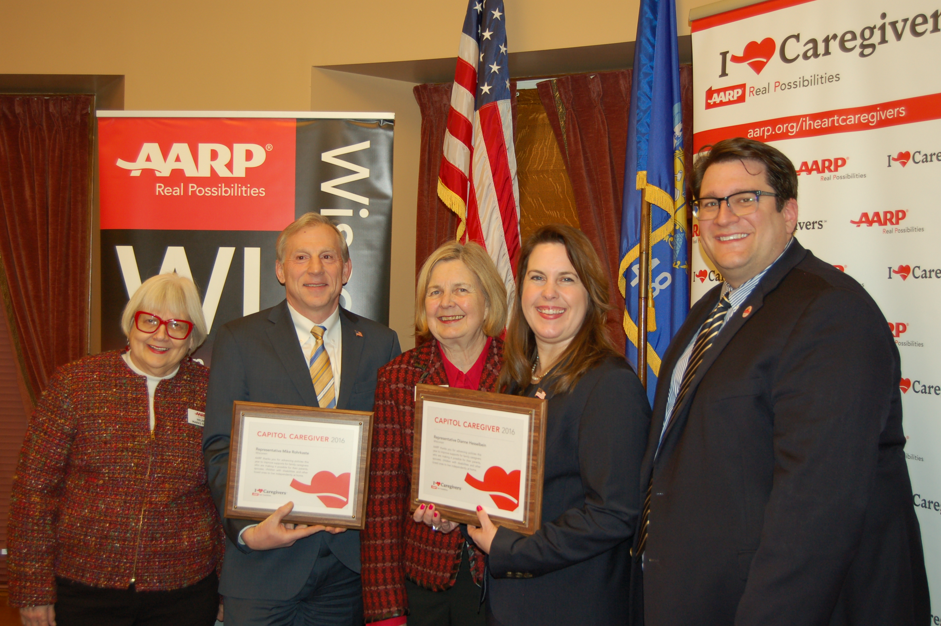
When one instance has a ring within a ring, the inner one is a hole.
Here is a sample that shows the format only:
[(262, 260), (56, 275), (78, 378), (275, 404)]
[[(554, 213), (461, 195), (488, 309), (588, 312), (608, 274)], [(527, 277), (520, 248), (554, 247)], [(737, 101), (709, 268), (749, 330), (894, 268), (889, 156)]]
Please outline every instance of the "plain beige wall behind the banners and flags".
[[(680, 35), (689, 8), (678, 0)], [(634, 39), (638, 0), (505, 0), (511, 50)], [(122, 74), (126, 109), (396, 114), (391, 326), (410, 337), (420, 116), (411, 84), (313, 66), (454, 56), (463, 0), (0, 3), (0, 73)]]

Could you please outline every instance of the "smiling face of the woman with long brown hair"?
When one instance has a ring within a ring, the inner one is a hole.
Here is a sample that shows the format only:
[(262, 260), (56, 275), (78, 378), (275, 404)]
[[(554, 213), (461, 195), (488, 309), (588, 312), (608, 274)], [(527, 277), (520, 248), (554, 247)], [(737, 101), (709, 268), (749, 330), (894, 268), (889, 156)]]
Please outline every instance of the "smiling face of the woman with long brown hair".
[(533, 249), (520, 298), (540, 352), (551, 346), (553, 354), (561, 354), (582, 329), (588, 311), (588, 292), (564, 245), (539, 244)]

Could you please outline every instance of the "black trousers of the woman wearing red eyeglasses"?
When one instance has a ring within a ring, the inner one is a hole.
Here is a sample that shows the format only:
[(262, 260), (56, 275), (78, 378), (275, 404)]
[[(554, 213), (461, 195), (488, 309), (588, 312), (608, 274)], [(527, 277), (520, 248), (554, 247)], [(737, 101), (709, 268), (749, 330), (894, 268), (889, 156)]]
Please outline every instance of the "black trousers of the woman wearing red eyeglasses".
[(105, 589), (56, 578), (56, 626), (213, 626), (219, 608), (215, 572), (169, 591)]

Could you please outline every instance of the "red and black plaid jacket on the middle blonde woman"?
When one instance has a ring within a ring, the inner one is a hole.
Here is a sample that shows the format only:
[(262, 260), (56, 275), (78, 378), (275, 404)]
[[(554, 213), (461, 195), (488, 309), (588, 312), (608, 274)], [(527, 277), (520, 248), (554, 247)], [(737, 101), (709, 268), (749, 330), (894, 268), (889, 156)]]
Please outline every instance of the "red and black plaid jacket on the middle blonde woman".
[[(480, 390), (496, 391), (503, 343), (494, 338)], [(434, 591), (455, 585), (464, 538), (415, 523), (408, 512), (411, 493), (415, 385), (446, 385), (437, 341), (408, 350), (379, 370), (370, 460), (366, 527), (359, 533), (362, 602), (367, 622), (405, 615), (405, 579)], [(480, 584), (485, 559), (471, 548), (470, 571)]]

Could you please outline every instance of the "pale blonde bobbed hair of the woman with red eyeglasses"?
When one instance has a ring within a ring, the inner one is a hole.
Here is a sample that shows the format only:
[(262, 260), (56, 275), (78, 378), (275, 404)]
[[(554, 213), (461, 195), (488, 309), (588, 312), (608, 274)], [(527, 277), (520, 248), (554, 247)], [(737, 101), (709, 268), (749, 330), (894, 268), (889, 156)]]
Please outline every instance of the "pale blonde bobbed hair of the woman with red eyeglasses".
[(192, 322), (193, 332), (189, 335), (190, 354), (209, 334), (206, 319), (202, 316), (202, 304), (196, 285), (176, 272), (152, 276), (137, 288), (120, 317), (120, 329), (124, 331), (125, 337), (131, 335), (134, 315), (138, 311), (154, 314), (158, 311), (170, 311)]

